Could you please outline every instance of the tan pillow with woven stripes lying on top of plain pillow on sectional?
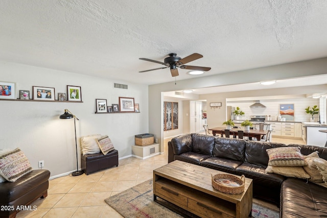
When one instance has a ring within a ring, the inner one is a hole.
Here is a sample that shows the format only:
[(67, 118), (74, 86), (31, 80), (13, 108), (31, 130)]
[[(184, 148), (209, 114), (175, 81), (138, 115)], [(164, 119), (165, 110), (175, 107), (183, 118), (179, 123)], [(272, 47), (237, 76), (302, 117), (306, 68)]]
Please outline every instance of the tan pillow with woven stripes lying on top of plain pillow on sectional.
[(279, 147), (267, 149), (269, 166), (305, 166), (307, 162), (303, 158), (299, 147)]

